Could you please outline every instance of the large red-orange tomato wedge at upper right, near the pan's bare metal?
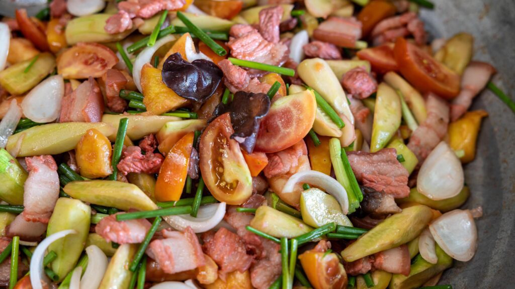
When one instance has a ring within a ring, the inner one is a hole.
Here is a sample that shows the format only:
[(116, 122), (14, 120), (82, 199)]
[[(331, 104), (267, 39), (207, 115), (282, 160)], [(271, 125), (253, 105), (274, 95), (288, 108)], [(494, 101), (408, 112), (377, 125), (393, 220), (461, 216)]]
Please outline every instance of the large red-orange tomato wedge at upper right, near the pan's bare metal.
[(433, 92), (447, 99), (458, 95), (459, 75), (415, 44), (398, 38), (393, 55), (404, 78), (422, 93)]

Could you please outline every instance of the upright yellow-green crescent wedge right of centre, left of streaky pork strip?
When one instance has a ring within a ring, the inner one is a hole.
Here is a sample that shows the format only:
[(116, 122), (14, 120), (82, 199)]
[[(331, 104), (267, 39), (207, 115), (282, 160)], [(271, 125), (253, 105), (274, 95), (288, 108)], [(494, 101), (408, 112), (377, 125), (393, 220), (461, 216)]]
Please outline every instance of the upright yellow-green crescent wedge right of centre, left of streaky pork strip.
[(370, 152), (375, 153), (386, 146), (401, 125), (401, 100), (399, 95), (386, 83), (377, 87), (374, 122)]

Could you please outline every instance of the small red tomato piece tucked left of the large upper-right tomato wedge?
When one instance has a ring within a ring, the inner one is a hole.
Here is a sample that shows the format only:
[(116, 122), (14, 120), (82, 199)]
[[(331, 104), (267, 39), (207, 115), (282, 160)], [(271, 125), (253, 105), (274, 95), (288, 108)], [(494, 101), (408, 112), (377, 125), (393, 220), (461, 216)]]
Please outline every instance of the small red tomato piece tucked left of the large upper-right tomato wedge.
[(359, 50), (357, 57), (362, 60), (368, 60), (372, 70), (376, 73), (385, 74), (388, 71), (397, 71), (399, 69), (393, 57), (393, 43)]

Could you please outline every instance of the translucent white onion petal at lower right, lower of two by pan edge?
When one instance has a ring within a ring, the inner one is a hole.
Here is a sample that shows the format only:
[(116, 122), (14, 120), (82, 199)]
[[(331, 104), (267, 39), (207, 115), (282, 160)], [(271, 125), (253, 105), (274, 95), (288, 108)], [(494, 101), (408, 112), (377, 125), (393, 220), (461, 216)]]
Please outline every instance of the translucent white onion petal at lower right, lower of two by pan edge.
[(429, 225), (436, 243), (458, 261), (469, 261), (477, 248), (477, 228), (469, 210), (444, 213)]

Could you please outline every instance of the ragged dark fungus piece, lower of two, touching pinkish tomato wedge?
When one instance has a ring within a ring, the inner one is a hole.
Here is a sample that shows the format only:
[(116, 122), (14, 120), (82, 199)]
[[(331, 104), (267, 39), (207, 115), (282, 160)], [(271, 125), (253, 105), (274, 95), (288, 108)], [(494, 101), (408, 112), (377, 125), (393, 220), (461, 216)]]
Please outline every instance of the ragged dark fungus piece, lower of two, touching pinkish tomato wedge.
[(233, 100), (216, 106), (213, 119), (225, 113), (231, 116), (231, 124), (234, 133), (231, 138), (239, 142), (247, 152), (252, 153), (258, 138), (261, 119), (270, 110), (270, 98), (264, 93), (237, 92)]

